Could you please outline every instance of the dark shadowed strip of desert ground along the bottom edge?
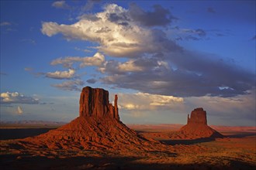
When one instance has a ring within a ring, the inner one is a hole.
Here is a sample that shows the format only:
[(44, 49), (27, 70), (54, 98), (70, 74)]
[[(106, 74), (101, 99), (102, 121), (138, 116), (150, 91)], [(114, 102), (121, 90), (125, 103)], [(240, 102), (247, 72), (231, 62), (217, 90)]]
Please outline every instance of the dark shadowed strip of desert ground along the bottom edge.
[(47, 158), (28, 155), (0, 155), (2, 169), (254, 169), (247, 162), (232, 161), (230, 165), (142, 163), (138, 157)]

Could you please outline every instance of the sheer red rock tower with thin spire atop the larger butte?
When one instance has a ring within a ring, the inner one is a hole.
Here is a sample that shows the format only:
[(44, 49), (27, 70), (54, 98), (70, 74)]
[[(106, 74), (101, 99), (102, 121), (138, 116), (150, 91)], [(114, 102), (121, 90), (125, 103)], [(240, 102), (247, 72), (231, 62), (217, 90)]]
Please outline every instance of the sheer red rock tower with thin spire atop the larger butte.
[(84, 87), (80, 96), (80, 117), (112, 117), (119, 120), (117, 95), (115, 105), (109, 104), (109, 92), (100, 88)]

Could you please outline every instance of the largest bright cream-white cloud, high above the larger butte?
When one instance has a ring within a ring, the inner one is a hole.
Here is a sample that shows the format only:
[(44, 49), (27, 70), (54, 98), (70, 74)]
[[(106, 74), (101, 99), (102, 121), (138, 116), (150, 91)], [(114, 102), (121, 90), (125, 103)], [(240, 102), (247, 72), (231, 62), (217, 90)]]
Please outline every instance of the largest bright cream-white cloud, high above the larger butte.
[[(111, 14), (116, 15), (115, 21)], [(90, 18), (84, 15), (72, 25), (43, 22), (41, 31), (47, 36), (61, 33), (66, 39), (98, 42), (98, 49), (110, 56), (133, 57), (139, 53), (181, 50), (160, 29), (146, 29), (138, 25), (129, 11), (121, 6), (106, 5), (104, 12), (93, 16), (95, 19), (92, 20), (92, 15)], [(126, 18), (126, 23), (117, 22), (117, 18)]]

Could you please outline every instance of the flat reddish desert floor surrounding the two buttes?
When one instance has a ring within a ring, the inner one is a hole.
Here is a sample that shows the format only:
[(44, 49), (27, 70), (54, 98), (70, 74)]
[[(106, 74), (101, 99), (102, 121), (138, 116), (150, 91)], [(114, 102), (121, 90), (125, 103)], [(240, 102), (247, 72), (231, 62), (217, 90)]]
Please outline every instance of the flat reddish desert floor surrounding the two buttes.
[(167, 145), (166, 151), (27, 151), (15, 139), (57, 127), (9, 125), (0, 128), (1, 169), (256, 169), (255, 127), (213, 127), (226, 138), (189, 139), (174, 135), (180, 124), (128, 126)]

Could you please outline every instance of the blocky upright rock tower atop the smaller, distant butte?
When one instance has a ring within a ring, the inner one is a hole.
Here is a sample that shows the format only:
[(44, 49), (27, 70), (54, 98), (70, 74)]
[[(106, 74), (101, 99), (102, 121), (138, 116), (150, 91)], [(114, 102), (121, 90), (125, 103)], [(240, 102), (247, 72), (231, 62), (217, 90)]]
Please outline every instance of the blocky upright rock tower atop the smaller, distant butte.
[(188, 124), (206, 124), (207, 125), (206, 111), (203, 110), (202, 107), (192, 110), (190, 118), (188, 115)]

